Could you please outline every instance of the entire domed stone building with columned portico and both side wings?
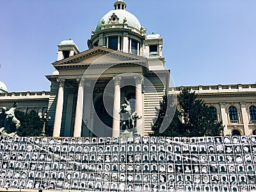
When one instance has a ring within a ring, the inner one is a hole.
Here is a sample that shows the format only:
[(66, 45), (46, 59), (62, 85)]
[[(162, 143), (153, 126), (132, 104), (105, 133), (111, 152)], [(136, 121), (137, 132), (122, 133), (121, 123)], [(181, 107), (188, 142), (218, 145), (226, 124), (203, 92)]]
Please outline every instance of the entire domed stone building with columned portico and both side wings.
[[(118, 0), (92, 31), (88, 50), (80, 52), (71, 39), (58, 45), (55, 71), (46, 76), (50, 92), (0, 93), (0, 107), (44, 113), (48, 110), (52, 136), (119, 136), (120, 108), (126, 97), (131, 111), (141, 118), (141, 136), (151, 131), (156, 107), (164, 94), (179, 94), (169, 87), (170, 70), (164, 68), (163, 38), (146, 34), (140, 21)], [(192, 86), (211, 106), (224, 135), (256, 134), (256, 84)], [(179, 104), (177, 104), (179, 109)], [(122, 125), (121, 125), (122, 126)]]

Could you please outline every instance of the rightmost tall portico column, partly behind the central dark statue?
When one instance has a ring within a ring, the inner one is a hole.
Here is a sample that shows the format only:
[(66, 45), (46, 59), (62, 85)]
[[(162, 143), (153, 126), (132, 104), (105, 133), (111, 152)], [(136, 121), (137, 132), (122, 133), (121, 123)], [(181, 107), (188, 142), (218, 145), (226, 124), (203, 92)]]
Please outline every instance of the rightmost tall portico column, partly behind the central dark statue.
[(143, 130), (143, 124), (142, 124), (142, 109), (143, 109), (143, 102), (142, 102), (142, 82), (143, 77), (141, 76), (134, 76), (135, 79), (135, 86), (136, 86), (136, 105), (135, 105), (135, 111), (137, 111), (138, 116), (141, 116), (141, 119), (137, 120), (137, 131), (138, 134), (143, 136), (144, 130)]

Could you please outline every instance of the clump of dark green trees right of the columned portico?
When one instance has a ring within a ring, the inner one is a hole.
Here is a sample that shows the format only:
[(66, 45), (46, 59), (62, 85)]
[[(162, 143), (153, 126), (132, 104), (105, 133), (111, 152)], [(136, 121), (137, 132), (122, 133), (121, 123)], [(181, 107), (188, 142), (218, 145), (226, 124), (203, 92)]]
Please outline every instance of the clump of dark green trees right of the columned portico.
[(156, 109), (158, 117), (152, 126), (153, 133), (150, 136), (219, 136), (223, 131), (222, 123), (214, 120), (209, 106), (197, 97), (195, 92), (183, 89), (178, 96), (180, 111), (176, 109), (173, 119), (170, 119), (170, 125), (161, 133), (159, 129), (168, 108), (168, 99), (164, 96), (160, 108)]

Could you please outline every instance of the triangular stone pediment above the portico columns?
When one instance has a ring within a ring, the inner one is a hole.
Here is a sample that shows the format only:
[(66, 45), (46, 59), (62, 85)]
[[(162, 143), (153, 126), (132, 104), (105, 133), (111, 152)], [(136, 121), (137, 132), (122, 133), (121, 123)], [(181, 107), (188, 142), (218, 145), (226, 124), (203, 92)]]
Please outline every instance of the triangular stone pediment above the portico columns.
[(55, 68), (62, 68), (68, 66), (108, 65), (109, 63), (144, 63), (144, 65), (147, 65), (147, 59), (125, 52), (113, 51), (106, 47), (95, 47), (64, 60), (56, 61), (52, 65)]

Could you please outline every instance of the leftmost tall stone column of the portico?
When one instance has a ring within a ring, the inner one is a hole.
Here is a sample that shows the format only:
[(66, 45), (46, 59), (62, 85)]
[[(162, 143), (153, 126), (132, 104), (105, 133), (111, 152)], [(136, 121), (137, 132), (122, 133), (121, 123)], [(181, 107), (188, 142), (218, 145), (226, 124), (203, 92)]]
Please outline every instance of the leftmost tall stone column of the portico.
[(54, 120), (54, 127), (53, 127), (53, 133), (52, 133), (53, 137), (60, 137), (61, 118), (62, 118), (63, 102), (64, 102), (65, 79), (58, 79), (57, 81), (59, 82), (59, 92), (57, 97), (55, 120)]

